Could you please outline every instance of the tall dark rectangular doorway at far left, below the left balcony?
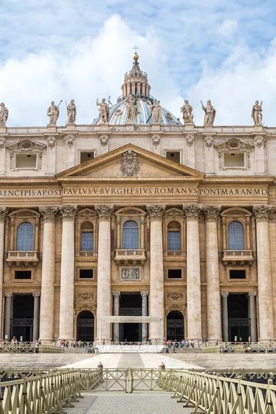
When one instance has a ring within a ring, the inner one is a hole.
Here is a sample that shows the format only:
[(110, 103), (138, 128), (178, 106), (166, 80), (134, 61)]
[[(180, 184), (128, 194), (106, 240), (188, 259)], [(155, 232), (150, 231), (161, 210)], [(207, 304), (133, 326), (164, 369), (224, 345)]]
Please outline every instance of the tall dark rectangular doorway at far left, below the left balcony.
[(17, 341), (32, 342), (34, 323), (34, 297), (32, 295), (15, 295), (10, 321), (11, 338)]

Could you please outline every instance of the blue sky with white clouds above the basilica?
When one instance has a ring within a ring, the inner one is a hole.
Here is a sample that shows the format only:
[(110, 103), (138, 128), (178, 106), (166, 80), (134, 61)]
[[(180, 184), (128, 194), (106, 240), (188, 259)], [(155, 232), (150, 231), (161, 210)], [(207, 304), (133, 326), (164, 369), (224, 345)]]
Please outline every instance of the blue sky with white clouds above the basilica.
[(215, 125), (276, 124), (275, 0), (1, 0), (0, 101), (7, 126), (46, 126), (59, 103), (59, 125), (75, 99), (77, 124), (98, 115), (96, 99), (121, 95), (133, 47), (151, 95), (176, 117), (184, 99), (203, 124), (211, 99)]

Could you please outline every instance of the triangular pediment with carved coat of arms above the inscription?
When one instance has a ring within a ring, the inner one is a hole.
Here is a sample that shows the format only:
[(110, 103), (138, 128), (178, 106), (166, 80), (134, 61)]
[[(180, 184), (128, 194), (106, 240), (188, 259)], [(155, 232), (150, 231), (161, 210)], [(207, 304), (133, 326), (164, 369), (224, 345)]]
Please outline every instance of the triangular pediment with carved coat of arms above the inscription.
[(79, 164), (57, 174), (57, 179), (91, 177), (94, 179), (152, 179), (166, 177), (190, 177), (203, 179), (204, 174), (193, 168), (177, 164), (153, 152), (127, 144), (86, 163)]

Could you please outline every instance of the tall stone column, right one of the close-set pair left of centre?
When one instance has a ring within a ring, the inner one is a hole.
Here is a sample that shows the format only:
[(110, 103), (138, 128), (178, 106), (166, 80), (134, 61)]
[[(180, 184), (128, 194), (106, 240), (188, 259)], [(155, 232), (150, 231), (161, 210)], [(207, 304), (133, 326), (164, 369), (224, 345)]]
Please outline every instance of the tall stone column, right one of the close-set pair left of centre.
[(74, 337), (75, 217), (77, 206), (59, 207), (62, 217), (59, 338)]

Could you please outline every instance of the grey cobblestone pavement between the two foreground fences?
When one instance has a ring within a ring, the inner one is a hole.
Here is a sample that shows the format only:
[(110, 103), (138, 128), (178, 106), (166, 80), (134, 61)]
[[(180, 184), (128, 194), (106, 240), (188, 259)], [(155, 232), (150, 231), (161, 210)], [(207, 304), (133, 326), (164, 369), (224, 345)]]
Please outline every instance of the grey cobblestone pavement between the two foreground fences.
[(190, 414), (191, 408), (172, 399), (172, 393), (81, 393), (83, 398), (70, 408), (70, 414)]

